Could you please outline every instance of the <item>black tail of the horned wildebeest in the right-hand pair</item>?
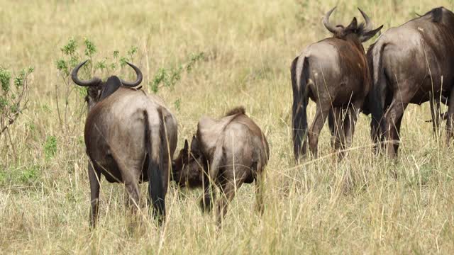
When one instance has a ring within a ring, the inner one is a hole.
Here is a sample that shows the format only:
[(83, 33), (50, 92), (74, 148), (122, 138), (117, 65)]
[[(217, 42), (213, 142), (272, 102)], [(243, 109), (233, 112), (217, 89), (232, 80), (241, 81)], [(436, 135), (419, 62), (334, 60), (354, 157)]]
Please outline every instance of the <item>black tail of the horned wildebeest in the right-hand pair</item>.
[(306, 154), (306, 80), (309, 79), (309, 61), (304, 57), (301, 74), (298, 77), (298, 60), (295, 58), (290, 68), (292, 75), (293, 106), (292, 106), (292, 128), (293, 128), (293, 153), (298, 161), (300, 155)]

